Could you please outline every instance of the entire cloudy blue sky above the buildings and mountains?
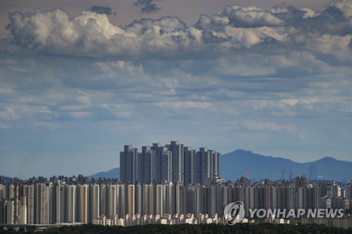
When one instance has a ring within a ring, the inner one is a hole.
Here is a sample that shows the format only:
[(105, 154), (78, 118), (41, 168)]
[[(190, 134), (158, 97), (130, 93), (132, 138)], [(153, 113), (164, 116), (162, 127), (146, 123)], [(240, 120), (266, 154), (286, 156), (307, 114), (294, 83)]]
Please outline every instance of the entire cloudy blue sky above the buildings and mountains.
[(0, 1), (0, 175), (180, 141), (351, 161), (352, 1)]

